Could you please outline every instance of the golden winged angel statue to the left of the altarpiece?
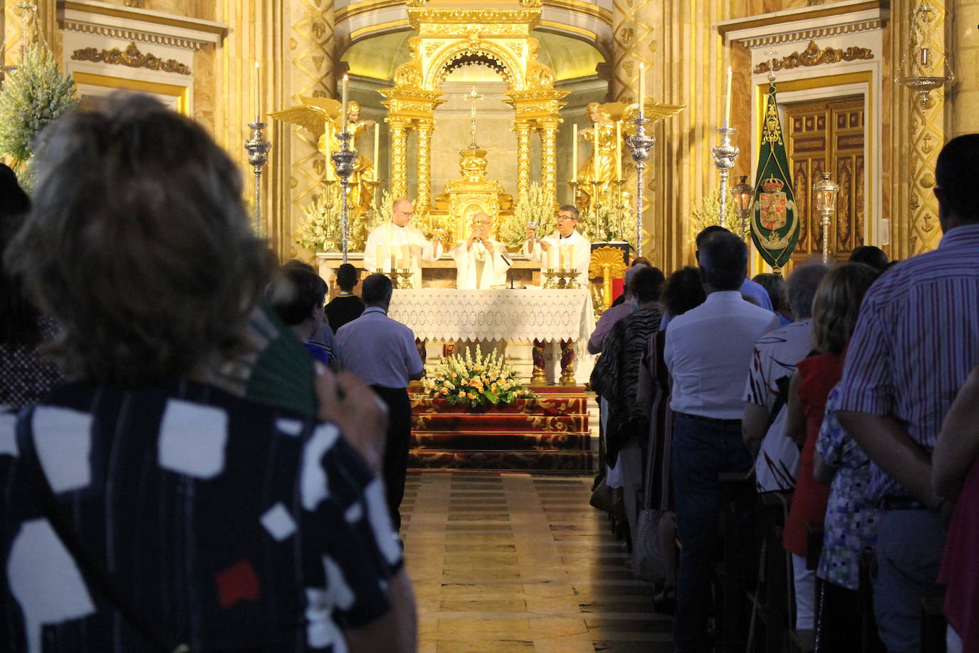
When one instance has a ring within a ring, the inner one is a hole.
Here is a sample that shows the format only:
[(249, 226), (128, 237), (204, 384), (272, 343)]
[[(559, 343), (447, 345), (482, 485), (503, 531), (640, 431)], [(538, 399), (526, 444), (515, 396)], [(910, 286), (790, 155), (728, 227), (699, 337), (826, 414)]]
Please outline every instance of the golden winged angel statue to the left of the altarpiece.
[[(333, 160), (330, 155), (341, 147), (340, 131), (343, 128), (341, 114), (341, 104), (337, 100), (327, 98), (300, 97), (300, 105), (285, 111), (269, 114), (284, 122), (291, 122), (302, 126), (316, 139), (316, 147), (326, 158), (327, 181), (337, 179), (337, 173), (333, 167)], [(357, 137), (363, 134), (368, 127), (375, 125), (374, 120), (360, 119), (360, 105), (356, 102), (347, 104), (347, 130), (351, 134), (350, 147), (357, 152)], [(374, 204), (374, 162), (369, 158), (359, 155), (353, 164), (353, 171), (350, 173), (348, 187), (350, 192), (347, 196), (348, 206), (353, 214), (362, 214), (370, 210)], [(332, 202), (340, 202), (340, 185), (329, 184), (330, 199)]]

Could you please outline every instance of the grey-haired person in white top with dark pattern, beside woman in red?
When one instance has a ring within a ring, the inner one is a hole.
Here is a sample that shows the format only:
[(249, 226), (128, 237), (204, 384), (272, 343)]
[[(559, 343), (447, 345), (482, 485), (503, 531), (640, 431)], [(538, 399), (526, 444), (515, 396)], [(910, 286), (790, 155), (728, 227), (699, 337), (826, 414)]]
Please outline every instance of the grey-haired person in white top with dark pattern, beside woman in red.
[(792, 490), (799, 465), (799, 447), (785, 438), (785, 403), (796, 363), (813, 350), (813, 299), (829, 267), (806, 263), (795, 268), (786, 284), (794, 322), (767, 333), (755, 344), (744, 389), (741, 432), (755, 458), (758, 491)]

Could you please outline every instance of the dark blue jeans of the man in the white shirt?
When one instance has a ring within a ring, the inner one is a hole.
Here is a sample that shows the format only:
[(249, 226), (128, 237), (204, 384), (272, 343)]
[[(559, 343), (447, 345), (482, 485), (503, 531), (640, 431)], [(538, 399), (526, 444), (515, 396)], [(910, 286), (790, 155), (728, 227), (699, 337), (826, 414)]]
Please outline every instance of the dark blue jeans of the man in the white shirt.
[(718, 475), (752, 467), (740, 422), (721, 424), (677, 414), (672, 465), (676, 532), (683, 545), (676, 577), (675, 650), (701, 653), (711, 646), (707, 609), (720, 517)]

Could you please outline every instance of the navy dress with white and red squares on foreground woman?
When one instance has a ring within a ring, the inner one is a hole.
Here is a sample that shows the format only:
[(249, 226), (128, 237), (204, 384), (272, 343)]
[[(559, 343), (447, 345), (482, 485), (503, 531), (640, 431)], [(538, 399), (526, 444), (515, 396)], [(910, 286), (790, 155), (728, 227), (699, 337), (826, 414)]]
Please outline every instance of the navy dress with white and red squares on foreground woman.
[(90, 552), (195, 651), (345, 651), (390, 609), (384, 488), (337, 426), (189, 382), (72, 384), (0, 414), (0, 650), (148, 650), (36, 507), (26, 438)]

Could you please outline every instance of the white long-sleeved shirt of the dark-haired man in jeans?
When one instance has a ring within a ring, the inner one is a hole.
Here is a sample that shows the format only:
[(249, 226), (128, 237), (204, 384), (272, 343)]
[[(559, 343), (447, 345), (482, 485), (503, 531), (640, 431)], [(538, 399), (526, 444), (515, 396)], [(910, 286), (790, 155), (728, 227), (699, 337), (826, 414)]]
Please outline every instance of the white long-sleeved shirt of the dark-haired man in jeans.
[(664, 360), (673, 378), (674, 412), (741, 419), (748, 366), (758, 339), (778, 328), (770, 310), (738, 291), (711, 293), (667, 327)]

